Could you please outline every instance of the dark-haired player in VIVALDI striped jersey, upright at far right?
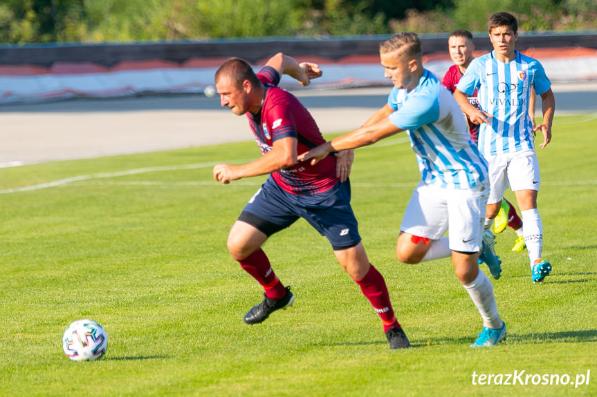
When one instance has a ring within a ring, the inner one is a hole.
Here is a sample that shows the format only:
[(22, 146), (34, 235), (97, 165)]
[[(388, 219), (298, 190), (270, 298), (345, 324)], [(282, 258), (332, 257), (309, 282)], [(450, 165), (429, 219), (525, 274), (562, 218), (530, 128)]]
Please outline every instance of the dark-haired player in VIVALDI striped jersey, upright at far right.
[[(472, 60), (454, 92), (469, 119), (481, 124), (479, 149), (488, 159), (491, 182), (485, 228), (499, 211), (510, 184), (524, 223), (524, 242), (529, 252), (531, 280), (542, 282), (551, 264), (541, 259), (543, 226), (537, 209), (540, 173), (534, 133), (541, 131), (544, 148), (551, 141), (555, 98), (543, 66), (514, 49), (518, 23), (513, 15), (497, 12), (488, 21), (493, 51)], [(532, 127), (529, 117), (531, 87), (541, 96), (543, 122)], [(477, 89), (480, 109), (466, 96)]]

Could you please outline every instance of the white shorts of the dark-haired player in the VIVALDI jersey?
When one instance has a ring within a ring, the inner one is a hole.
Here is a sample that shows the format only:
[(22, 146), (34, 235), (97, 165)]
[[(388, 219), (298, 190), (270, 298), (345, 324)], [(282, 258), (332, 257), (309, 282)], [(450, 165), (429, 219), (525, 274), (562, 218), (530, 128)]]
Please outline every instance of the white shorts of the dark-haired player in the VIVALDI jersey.
[(488, 163), (490, 193), (487, 204), (502, 202), (508, 182), (512, 191), (539, 191), (541, 178), (535, 151), (491, 156)]

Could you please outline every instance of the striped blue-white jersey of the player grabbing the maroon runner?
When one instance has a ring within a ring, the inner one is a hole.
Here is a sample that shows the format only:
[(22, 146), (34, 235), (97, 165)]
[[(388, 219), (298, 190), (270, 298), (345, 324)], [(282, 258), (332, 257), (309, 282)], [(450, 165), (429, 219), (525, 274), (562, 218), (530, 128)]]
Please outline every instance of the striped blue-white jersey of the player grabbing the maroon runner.
[(407, 130), (423, 182), (465, 189), (487, 179), (487, 163), (470, 139), (460, 106), (429, 70), (414, 90), (393, 88), (387, 103), (395, 110), (390, 121)]

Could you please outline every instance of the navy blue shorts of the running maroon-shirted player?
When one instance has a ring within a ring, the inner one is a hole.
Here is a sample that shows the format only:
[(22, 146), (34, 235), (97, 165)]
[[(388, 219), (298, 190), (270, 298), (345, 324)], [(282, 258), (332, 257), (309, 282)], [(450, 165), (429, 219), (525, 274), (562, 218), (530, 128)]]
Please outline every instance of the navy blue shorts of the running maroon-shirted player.
[(293, 195), (272, 179), (261, 185), (239, 215), (268, 237), (302, 217), (329, 240), (333, 249), (347, 249), (360, 242), (358, 222), (350, 206), (350, 182), (315, 195)]

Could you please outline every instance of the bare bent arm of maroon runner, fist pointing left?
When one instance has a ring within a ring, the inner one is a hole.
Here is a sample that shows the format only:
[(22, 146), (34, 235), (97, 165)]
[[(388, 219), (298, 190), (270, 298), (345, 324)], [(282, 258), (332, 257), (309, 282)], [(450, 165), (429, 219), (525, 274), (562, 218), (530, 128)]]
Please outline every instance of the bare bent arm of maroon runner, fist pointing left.
[(274, 173), (297, 162), (297, 139), (286, 137), (273, 142), (273, 148), (254, 162), (242, 165), (217, 164), (214, 166), (214, 180), (228, 184), (244, 177)]

